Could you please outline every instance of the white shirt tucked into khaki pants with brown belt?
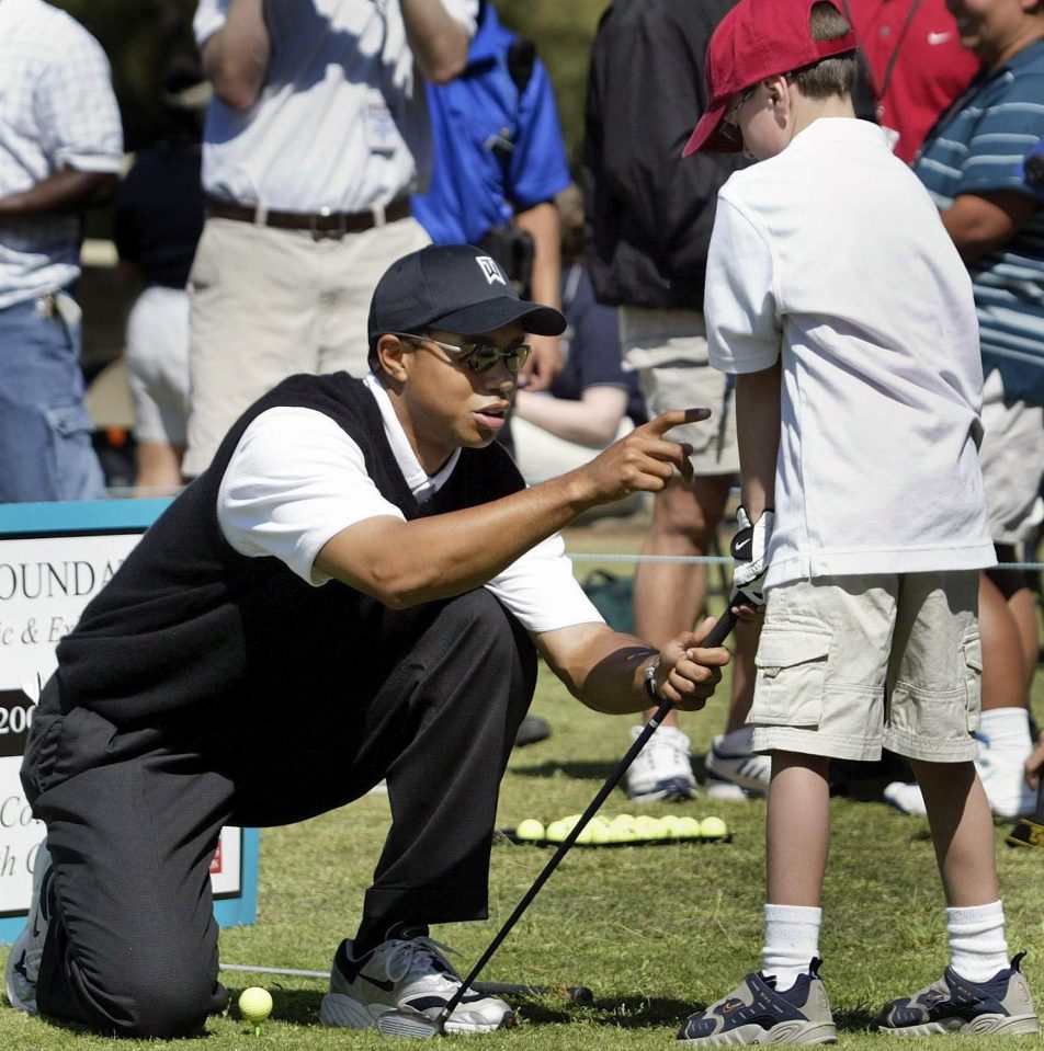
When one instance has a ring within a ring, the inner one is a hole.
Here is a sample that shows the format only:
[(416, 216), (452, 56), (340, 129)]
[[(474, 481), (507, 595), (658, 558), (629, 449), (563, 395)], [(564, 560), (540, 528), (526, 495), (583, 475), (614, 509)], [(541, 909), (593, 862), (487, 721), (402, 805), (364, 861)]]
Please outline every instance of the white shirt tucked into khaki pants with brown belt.
[[(440, 0), (475, 33), (478, 0)], [(200, 0), (202, 47), (229, 0)], [(272, 54), (258, 101), (207, 113), (203, 187), (279, 212), (363, 212), (427, 186), (431, 135), (399, 0), (264, 5)]]

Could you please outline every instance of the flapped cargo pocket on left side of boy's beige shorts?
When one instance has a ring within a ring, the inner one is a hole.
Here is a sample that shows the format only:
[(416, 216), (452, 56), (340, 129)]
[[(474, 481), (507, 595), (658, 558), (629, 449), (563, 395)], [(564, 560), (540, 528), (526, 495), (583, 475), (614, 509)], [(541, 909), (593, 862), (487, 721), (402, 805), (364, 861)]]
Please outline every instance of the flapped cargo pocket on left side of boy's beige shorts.
[(758, 684), (749, 721), (764, 727), (818, 727), (831, 635), (765, 628), (758, 644)]

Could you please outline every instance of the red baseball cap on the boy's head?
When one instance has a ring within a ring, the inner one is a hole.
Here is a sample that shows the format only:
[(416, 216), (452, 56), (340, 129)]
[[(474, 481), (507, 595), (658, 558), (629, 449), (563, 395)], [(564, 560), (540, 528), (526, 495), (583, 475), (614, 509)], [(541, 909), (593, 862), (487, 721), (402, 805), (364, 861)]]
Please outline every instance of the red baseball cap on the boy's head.
[(854, 30), (830, 41), (812, 38), (808, 21), (813, 7), (819, 2), (841, 12), (837, 0), (739, 0), (722, 19), (707, 45), (707, 108), (682, 157), (699, 150), (739, 152), (739, 145), (720, 130), (729, 100), (737, 91), (767, 77), (855, 50)]

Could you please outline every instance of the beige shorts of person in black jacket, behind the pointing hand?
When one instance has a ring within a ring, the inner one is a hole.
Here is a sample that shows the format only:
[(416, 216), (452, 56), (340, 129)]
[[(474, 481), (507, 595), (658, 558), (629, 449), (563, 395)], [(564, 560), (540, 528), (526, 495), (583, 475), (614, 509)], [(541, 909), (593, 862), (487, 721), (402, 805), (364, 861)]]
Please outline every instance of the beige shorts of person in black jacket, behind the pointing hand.
[(638, 373), (649, 418), (667, 409), (708, 408), (710, 420), (674, 427), (668, 437), (692, 446), (697, 475), (734, 475), (739, 470), (735, 404), (728, 376), (707, 363), (706, 334), (695, 310), (620, 310), (624, 368)]

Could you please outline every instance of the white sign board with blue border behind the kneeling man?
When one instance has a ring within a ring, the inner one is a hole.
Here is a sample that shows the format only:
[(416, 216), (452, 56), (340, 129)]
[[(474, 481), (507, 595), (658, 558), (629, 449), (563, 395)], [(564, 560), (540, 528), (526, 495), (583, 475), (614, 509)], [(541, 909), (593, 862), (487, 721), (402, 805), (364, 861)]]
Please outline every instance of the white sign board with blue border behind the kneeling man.
[[(0, 504), (0, 943), (22, 929), (44, 825), (19, 769), (58, 640), (76, 625), (169, 500)], [(223, 831), (211, 864), (222, 926), (253, 923), (258, 831)]]

